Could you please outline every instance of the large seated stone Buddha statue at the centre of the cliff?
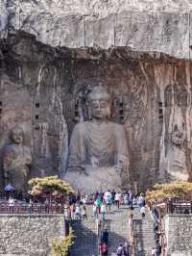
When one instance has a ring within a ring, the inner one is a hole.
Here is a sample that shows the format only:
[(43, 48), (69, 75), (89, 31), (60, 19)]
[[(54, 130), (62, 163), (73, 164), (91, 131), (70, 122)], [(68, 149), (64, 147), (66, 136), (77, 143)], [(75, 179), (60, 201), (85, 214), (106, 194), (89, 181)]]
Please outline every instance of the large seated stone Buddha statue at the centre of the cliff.
[(108, 91), (94, 87), (88, 94), (88, 106), (91, 120), (78, 123), (72, 133), (65, 179), (87, 192), (128, 186), (127, 139), (123, 126), (108, 120)]

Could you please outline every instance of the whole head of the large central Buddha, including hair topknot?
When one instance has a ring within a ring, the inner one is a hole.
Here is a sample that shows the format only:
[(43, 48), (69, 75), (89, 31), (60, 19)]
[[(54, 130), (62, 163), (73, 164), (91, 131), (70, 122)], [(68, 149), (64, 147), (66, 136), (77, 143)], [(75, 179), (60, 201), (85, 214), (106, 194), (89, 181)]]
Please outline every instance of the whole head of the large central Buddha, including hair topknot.
[(105, 120), (110, 115), (110, 95), (102, 86), (94, 87), (88, 95), (90, 115), (93, 119)]

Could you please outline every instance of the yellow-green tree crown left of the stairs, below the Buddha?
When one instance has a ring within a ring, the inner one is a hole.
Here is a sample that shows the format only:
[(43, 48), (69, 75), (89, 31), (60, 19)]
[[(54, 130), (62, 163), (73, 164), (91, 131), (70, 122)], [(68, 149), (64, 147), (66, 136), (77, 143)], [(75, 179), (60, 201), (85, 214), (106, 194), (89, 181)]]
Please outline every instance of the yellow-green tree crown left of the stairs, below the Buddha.
[(33, 178), (28, 182), (28, 184), (32, 187), (30, 191), (32, 195), (49, 193), (60, 196), (74, 193), (71, 185), (57, 176)]

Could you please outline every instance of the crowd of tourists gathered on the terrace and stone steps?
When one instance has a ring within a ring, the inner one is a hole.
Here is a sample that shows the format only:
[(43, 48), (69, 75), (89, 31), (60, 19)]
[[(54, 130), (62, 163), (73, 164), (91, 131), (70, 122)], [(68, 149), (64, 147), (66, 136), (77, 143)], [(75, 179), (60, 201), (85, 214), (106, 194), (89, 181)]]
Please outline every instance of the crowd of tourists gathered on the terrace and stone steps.
[[(10, 212), (13, 212), (13, 208), (16, 203), (16, 199), (12, 196), (8, 199), (8, 205)], [(28, 206), (31, 209), (35, 202), (32, 199), (28, 200)], [(37, 202), (38, 203), (38, 202)], [(45, 199), (43, 202), (39, 202), (42, 205), (48, 205), (49, 202)], [(70, 196), (63, 204), (63, 213), (65, 219), (87, 219), (87, 205), (91, 205), (92, 217), (96, 219), (105, 220), (106, 215), (110, 213), (111, 209), (119, 209), (121, 205), (127, 205), (130, 208), (130, 216), (133, 218), (134, 207), (138, 207), (142, 218), (145, 218), (145, 198), (143, 193), (135, 195), (132, 191), (128, 192), (115, 192), (115, 190), (108, 190), (103, 192), (102, 190), (96, 191), (93, 194), (81, 194), (77, 191), (74, 196)], [(46, 209), (45, 209), (46, 210)], [(89, 213), (89, 212), (88, 212)], [(159, 244), (159, 226), (158, 226), (158, 212), (156, 208), (153, 209), (154, 216), (154, 232), (156, 246), (152, 248), (152, 256), (161, 255), (161, 246)], [(91, 213), (89, 213), (91, 214)], [(102, 256), (108, 255), (108, 229), (105, 228), (101, 234), (100, 240), (100, 254)], [(129, 256), (130, 244), (119, 244), (112, 253), (113, 256)]]

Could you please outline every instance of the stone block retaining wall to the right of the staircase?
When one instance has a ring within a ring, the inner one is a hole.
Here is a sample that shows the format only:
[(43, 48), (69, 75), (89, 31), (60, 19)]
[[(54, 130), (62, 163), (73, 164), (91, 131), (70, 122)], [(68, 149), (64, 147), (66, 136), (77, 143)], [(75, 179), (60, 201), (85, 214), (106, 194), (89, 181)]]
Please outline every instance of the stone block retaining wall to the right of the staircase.
[(192, 216), (165, 217), (168, 256), (190, 256), (192, 251)]

